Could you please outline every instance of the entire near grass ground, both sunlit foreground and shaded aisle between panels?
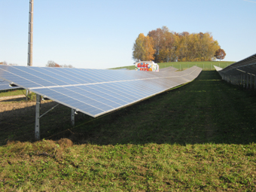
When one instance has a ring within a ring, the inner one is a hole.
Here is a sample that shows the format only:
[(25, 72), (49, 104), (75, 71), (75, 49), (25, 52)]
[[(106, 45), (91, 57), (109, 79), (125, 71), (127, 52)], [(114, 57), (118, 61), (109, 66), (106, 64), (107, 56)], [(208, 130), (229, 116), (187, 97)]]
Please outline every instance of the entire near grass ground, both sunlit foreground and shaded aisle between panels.
[(39, 142), (25, 103), (0, 102), (16, 106), (0, 112), (2, 191), (256, 189), (255, 93), (215, 71), (96, 119), (78, 114), (75, 127), (59, 106), (42, 118)]

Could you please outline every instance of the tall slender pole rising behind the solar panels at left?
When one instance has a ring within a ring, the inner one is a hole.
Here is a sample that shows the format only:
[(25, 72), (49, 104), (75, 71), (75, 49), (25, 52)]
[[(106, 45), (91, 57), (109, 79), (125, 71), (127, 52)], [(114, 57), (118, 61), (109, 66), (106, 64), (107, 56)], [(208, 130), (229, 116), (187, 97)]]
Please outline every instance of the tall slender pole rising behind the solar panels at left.
[(29, 47), (28, 47), (28, 65), (32, 66), (33, 56), (33, 12), (34, 0), (29, 0)]

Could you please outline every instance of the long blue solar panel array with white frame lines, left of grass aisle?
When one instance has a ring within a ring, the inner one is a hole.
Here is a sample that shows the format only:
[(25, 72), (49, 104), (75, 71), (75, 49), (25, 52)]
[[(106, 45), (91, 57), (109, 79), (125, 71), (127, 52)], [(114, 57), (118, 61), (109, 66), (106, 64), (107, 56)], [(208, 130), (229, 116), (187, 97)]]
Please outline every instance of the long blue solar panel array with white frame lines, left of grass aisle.
[(0, 66), (0, 78), (97, 117), (192, 81), (201, 71), (197, 66), (183, 72)]

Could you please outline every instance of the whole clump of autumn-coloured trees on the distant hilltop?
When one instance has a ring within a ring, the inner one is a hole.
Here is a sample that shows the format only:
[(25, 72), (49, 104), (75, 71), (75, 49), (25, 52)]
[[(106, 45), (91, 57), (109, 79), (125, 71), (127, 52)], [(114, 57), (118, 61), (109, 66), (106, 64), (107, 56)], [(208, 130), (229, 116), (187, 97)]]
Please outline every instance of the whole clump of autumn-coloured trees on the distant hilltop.
[(224, 59), (221, 49), (211, 33), (170, 32), (166, 26), (140, 33), (133, 44), (133, 59), (154, 62), (212, 61)]

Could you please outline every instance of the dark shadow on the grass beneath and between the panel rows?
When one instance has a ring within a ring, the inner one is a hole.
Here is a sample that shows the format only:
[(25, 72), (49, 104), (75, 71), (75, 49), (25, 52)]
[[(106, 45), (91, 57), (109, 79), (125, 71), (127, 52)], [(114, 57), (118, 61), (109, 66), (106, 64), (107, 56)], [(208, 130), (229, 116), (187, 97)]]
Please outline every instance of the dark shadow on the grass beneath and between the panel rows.
[[(70, 112), (60, 106), (43, 117), (41, 138), (96, 145), (256, 142), (255, 94), (221, 81), (215, 71), (203, 71), (190, 84), (102, 117), (78, 114), (75, 127), (70, 126)], [(6, 139), (33, 141), (35, 114), (27, 115), (24, 123), (13, 117), (17, 125), (11, 129), (5, 125), (2, 145)]]

